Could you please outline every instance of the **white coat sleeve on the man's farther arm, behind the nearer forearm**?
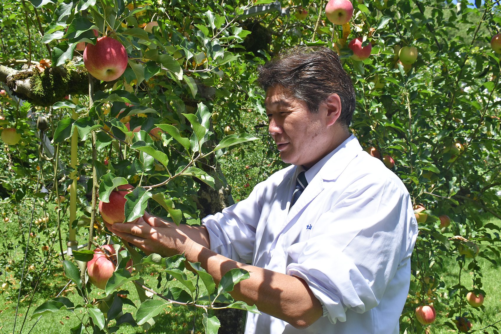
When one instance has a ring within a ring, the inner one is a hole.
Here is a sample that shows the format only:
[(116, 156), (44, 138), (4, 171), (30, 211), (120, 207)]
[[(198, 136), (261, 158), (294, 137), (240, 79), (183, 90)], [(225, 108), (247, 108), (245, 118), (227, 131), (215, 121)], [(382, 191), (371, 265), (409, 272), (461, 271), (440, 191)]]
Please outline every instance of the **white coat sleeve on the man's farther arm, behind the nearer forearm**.
[(252, 261), (265, 182), (256, 185), (246, 199), (202, 219), (211, 250), (241, 263)]

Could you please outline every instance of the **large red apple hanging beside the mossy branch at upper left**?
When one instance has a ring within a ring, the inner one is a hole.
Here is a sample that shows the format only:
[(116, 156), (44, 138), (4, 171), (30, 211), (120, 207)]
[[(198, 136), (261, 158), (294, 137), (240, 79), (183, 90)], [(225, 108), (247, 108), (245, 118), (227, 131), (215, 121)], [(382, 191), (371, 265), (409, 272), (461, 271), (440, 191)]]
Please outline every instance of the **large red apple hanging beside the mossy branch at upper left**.
[(84, 50), (85, 68), (98, 80), (120, 78), (127, 68), (127, 60), (124, 46), (111, 37), (100, 37), (96, 45), (89, 43)]

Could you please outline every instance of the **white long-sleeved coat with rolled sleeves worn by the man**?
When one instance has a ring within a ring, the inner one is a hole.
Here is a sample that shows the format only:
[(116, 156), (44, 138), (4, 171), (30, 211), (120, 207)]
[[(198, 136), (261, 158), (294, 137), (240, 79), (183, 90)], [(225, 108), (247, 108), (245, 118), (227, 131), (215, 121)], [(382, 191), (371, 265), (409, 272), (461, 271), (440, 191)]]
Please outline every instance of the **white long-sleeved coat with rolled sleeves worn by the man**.
[(301, 277), (322, 303), (308, 328), (247, 313), (245, 333), (398, 334), (417, 236), (402, 181), (352, 135), (307, 171), (289, 211), (298, 169), (274, 173), (202, 220), (213, 251)]

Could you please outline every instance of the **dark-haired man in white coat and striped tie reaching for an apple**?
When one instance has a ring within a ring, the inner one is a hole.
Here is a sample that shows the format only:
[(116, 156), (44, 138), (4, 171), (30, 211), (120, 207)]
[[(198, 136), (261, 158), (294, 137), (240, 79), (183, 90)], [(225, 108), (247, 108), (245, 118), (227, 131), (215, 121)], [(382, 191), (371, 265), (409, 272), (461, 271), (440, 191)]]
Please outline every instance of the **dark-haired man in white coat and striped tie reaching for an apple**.
[(293, 49), (260, 68), (260, 83), (291, 166), (202, 226), (145, 213), (110, 229), (146, 252), (184, 252), (216, 282), (249, 271), (231, 293), (262, 312), (247, 314), (246, 333), (397, 334), (417, 223), (402, 182), (348, 130), (355, 95), (337, 54)]

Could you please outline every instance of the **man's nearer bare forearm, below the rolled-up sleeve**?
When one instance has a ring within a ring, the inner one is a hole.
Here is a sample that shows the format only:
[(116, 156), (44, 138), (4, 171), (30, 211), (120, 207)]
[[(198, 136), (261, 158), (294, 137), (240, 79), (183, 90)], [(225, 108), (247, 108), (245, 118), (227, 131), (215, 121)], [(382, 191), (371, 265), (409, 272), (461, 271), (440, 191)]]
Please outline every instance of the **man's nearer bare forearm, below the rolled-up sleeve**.
[(189, 261), (200, 262), (214, 281), (230, 269), (242, 268), (250, 278), (236, 284), (230, 292), (236, 300), (255, 304), (262, 312), (281, 318), (297, 328), (304, 328), (322, 316), (322, 306), (306, 282), (296, 276), (243, 264), (217, 254), (201, 244), (186, 249)]

